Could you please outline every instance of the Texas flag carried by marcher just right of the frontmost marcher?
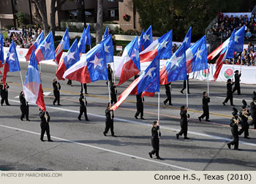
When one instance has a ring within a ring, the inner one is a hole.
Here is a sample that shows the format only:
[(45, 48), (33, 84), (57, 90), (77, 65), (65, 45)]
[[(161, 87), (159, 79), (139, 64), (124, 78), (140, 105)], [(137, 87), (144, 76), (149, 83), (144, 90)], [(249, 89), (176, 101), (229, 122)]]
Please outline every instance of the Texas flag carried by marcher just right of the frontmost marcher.
[(184, 43), (166, 62), (160, 71), (160, 84), (165, 85), (176, 80), (187, 80), (186, 50)]

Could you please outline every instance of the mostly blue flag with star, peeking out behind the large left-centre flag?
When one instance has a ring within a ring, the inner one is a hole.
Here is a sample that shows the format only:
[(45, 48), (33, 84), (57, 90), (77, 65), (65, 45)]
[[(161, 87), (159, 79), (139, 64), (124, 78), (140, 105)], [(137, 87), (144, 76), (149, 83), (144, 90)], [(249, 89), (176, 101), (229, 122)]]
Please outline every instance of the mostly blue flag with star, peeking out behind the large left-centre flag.
[(105, 50), (105, 57), (107, 64), (114, 62), (114, 50), (113, 50), (113, 41), (112, 41), (112, 35), (108, 35), (105, 39), (102, 40), (102, 42), (99, 42), (99, 44), (104, 45)]

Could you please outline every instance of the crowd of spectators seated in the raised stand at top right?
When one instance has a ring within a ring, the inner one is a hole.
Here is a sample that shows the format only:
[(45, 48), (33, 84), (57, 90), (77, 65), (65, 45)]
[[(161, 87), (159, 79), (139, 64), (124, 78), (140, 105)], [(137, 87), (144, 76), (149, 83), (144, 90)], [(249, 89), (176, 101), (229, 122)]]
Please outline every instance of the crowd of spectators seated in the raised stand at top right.
[(222, 37), (227, 39), (231, 36), (232, 31), (245, 26), (246, 34), (244, 35), (245, 39), (254, 39), (256, 38), (256, 18), (255, 15), (251, 15), (251, 18), (248, 15), (223, 15), (222, 12), (217, 14), (217, 21), (213, 24), (207, 32), (208, 39), (216, 39), (217, 37)]

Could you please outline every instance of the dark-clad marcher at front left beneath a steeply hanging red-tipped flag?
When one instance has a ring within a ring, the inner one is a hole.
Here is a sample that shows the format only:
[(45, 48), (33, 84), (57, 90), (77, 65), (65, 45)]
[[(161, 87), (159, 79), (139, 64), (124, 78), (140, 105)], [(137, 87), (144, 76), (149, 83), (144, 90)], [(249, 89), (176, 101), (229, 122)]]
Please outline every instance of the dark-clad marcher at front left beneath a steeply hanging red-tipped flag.
[(43, 138), (44, 138), (44, 135), (45, 135), (45, 131), (46, 131), (46, 134), (47, 134), (47, 138), (48, 138), (48, 141), (52, 141), (50, 139), (50, 126), (49, 126), (49, 122), (50, 122), (50, 115), (48, 114), (48, 112), (39, 112), (39, 117), (41, 118), (41, 123), (40, 123), (40, 126), (41, 126), (41, 137), (40, 139), (43, 141)]

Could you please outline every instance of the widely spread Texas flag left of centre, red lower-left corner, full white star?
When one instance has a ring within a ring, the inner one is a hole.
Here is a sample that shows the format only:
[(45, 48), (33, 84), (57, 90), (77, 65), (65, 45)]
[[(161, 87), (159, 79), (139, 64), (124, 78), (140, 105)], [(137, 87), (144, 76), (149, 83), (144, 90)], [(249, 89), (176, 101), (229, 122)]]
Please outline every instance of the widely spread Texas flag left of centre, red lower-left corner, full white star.
[(86, 53), (86, 57), (81, 58), (80, 61), (67, 69), (63, 77), (69, 80), (76, 80), (80, 83), (108, 80), (104, 45), (99, 44), (93, 47)]

